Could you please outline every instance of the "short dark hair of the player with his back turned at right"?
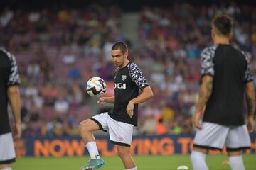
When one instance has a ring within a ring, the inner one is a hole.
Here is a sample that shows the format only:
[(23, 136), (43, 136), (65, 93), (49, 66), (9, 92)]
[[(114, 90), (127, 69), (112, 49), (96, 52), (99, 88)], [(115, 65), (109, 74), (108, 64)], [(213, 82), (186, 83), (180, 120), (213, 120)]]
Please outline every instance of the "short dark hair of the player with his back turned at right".
[(233, 19), (225, 14), (215, 16), (212, 24), (217, 34), (225, 37), (228, 37), (233, 29)]

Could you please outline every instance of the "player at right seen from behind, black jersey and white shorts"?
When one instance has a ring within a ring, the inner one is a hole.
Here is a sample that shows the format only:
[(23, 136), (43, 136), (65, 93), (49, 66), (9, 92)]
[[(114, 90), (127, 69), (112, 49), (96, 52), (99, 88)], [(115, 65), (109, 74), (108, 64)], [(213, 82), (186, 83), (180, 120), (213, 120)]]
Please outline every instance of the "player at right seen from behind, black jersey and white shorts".
[[(205, 161), (208, 149), (223, 149), (224, 145), (231, 169), (245, 169), (242, 149), (251, 145), (249, 132), (254, 125), (255, 89), (249, 60), (230, 45), (232, 28), (232, 18), (216, 16), (211, 31), (214, 45), (201, 54), (202, 84), (192, 118), (193, 126), (198, 129), (191, 153), (196, 170), (208, 169)], [(243, 112), (244, 96), (248, 126)]]

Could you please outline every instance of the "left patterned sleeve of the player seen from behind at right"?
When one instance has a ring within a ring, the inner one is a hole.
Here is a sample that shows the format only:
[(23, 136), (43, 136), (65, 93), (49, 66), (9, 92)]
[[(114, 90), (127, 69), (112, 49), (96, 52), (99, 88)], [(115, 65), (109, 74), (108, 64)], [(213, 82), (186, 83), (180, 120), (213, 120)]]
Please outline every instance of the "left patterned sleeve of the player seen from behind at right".
[(201, 77), (210, 75), (214, 77), (214, 63), (213, 58), (215, 55), (216, 46), (208, 47), (201, 53)]

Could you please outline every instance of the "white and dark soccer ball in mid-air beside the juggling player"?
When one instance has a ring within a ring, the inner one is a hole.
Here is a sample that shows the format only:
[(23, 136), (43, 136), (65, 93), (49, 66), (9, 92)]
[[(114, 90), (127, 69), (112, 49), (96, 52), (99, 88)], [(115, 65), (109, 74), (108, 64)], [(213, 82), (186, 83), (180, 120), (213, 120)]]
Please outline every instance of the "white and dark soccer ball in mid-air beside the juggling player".
[(90, 96), (104, 94), (107, 90), (105, 81), (100, 77), (92, 77), (87, 81), (86, 91)]

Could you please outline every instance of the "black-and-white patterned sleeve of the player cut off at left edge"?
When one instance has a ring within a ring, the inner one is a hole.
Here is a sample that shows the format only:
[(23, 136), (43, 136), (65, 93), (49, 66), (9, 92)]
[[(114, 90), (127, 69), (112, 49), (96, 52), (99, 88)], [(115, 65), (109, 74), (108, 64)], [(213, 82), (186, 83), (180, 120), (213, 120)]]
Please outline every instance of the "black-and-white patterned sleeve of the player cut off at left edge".
[(18, 66), (16, 63), (16, 59), (14, 55), (11, 55), (11, 53), (7, 53), (9, 60), (11, 62), (11, 69), (10, 69), (10, 74), (9, 74), (9, 79), (7, 82), (7, 86), (14, 86), (18, 85), (21, 83), (19, 74), (18, 74)]

